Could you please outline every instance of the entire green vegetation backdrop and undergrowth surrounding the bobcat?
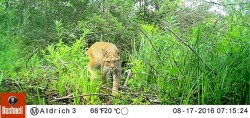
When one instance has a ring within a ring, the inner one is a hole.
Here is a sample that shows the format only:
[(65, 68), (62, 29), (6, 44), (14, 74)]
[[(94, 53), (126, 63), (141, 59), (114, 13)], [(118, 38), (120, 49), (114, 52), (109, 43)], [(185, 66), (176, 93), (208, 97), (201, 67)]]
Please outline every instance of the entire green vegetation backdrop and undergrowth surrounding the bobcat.
[[(187, 2), (0, 0), (0, 92), (28, 104), (249, 105), (250, 3)], [(121, 50), (118, 96), (89, 80), (96, 41)]]

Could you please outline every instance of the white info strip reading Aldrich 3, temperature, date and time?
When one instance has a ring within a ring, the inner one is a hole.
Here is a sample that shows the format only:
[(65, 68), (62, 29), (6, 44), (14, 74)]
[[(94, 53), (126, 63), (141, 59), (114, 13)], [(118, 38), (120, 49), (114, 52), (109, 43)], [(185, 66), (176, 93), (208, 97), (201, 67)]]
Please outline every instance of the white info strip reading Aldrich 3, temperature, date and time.
[(249, 105), (27, 105), (28, 118), (247, 118)]

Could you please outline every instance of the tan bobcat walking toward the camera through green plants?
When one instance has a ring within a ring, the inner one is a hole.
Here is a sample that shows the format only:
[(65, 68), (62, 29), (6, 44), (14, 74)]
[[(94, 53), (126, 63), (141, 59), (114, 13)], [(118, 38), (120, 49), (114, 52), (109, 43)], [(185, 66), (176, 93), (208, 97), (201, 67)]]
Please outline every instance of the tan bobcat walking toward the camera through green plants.
[[(120, 56), (118, 48), (108, 42), (96, 42), (86, 51), (89, 57), (88, 71), (90, 76), (94, 75), (97, 68), (101, 68), (101, 76), (104, 84), (110, 72), (113, 72), (113, 88), (112, 94), (118, 94), (118, 86), (120, 80)], [(91, 77), (93, 81), (93, 77)]]

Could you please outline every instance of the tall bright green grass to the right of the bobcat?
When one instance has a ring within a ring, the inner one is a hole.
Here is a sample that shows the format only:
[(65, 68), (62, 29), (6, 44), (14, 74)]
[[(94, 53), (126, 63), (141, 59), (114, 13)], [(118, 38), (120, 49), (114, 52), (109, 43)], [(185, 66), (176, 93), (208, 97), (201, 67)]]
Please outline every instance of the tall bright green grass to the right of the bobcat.
[(188, 42), (202, 62), (170, 32), (151, 25), (142, 28), (148, 36), (142, 34), (131, 55), (133, 92), (154, 93), (162, 104), (249, 104), (249, 42), (215, 32), (204, 39), (203, 30), (209, 27), (200, 25)]

